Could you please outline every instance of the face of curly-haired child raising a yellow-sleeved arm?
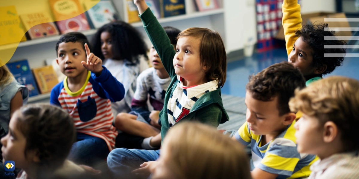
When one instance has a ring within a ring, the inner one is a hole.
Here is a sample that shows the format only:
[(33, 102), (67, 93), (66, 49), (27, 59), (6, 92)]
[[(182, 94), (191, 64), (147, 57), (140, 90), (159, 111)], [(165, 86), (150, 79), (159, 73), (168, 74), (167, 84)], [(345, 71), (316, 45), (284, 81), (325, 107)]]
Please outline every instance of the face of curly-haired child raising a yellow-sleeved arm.
[(293, 50), (288, 55), (288, 62), (293, 64), (294, 67), (299, 68), (304, 77), (314, 74), (316, 67), (312, 65), (313, 53), (308, 44), (299, 37), (294, 45)]

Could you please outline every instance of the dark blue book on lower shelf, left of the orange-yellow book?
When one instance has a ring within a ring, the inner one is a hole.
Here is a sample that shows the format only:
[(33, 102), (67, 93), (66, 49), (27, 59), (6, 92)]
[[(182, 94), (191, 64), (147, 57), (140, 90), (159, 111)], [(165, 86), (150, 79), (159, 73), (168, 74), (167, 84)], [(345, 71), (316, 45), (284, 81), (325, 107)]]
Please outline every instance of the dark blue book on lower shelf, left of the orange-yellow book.
[(39, 94), (27, 60), (6, 63), (6, 66), (13, 73), (16, 81), (29, 89), (29, 97)]

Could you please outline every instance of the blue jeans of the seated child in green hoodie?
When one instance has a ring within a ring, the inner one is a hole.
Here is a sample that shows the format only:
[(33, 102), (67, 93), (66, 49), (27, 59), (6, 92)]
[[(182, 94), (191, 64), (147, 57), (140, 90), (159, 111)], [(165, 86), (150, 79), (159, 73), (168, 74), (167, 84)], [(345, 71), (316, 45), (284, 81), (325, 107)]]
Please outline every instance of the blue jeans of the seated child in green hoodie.
[(131, 171), (140, 168), (147, 161), (155, 161), (160, 150), (139, 150), (118, 148), (107, 156), (107, 165), (114, 178), (132, 178)]

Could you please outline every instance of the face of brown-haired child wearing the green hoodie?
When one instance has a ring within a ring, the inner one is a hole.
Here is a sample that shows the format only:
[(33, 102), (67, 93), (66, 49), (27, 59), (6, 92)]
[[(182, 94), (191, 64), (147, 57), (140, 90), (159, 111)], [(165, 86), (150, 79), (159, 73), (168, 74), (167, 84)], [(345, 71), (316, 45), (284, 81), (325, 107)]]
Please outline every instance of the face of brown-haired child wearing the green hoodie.
[(174, 72), (184, 79), (205, 76), (205, 66), (200, 61), (200, 38), (190, 36), (177, 40), (173, 58)]

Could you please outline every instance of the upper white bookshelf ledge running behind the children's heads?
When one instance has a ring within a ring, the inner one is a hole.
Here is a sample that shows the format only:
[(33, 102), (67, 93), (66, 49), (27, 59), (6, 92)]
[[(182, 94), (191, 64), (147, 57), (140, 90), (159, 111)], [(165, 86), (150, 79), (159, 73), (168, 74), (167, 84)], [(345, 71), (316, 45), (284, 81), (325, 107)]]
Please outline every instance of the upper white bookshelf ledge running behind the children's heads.
[[(170, 22), (170, 21), (178, 21), (178, 20), (185, 20), (185, 19), (192, 19), (192, 18), (197, 18), (197, 17), (202, 17), (202, 16), (208, 16), (208, 15), (223, 14), (223, 12), (224, 12), (224, 10), (221, 8), (221, 9), (215, 9), (215, 10), (210, 10), (210, 11), (202, 11), (202, 12), (195, 12), (195, 13), (191, 13), (191, 14), (177, 15), (177, 16), (172, 16), (172, 17), (168, 17), (168, 18), (161, 18), (161, 19), (158, 19), (158, 21), (159, 21), (159, 23), (166, 23), (166, 22)], [(136, 23), (131, 23), (131, 25), (134, 27), (143, 26), (141, 21), (136, 22)], [(85, 35), (93, 35), (96, 32), (97, 32), (97, 29), (91, 29), (91, 30), (82, 31), (81, 33), (83, 33)], [(39, 39), (34, 39), (34, 40), (27, 40), (25, 42), (20, 42), (17, 47), (18, 48), (19, 47), (27, 47), (30, 45), (54, 42), (54, 41), (59, 40), (60, 37), (61, 37), (61, 35), (56, 35), (56, 36), (44, 37), (44, 38), (39, 38)], [(16, 44), (17, 43), (0, 45), (0, 50), (15, 48)]]

